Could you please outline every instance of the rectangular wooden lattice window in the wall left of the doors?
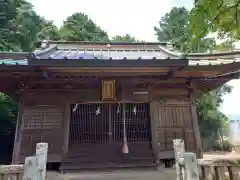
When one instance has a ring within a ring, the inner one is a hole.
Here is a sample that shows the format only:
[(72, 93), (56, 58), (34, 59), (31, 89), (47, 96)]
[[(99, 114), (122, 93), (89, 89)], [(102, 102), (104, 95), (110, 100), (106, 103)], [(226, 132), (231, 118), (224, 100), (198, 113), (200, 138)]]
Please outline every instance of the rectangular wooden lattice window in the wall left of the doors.
[(23, 129), (56, 129), (61, 127), (63, 112), (57, 108), (36, 108), (23, 113)]

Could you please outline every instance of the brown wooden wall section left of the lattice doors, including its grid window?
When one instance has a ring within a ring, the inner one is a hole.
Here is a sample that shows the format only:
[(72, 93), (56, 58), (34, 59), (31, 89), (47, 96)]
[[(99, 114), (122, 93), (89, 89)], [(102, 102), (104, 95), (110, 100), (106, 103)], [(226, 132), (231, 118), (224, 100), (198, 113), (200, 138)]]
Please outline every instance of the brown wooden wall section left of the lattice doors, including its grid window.
[[(49, 144), (48, 157), (63, 154), (64, 108), (61, 106), (25, 106), (21, 119), (21, 145), (19, 156), (31, 156), (37, 143)], [(52, 158), (51, 158), (52, 159)], [(52, 159), (54, 161), (54, 159)], [(55, 159), (59, 161), (59, 159)]]

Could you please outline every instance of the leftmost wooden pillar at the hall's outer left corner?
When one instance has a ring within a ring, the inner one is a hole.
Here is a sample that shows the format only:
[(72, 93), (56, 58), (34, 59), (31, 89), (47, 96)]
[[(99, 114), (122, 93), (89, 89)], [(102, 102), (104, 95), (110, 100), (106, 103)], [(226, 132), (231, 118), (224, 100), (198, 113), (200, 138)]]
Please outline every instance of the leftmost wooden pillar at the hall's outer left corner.
[(21, 125), (22, 125), (22, 110), (23, 105), (18, 105), (18, 116), (17, 116), (17, 124), (15, 130), (15, 139), (14, 139), (14, 147), (13, 147), (13, 154), (12, 154), (12, 164), (16, 164), (19, 160), (20, 155), (20, 146), (21, 146)]

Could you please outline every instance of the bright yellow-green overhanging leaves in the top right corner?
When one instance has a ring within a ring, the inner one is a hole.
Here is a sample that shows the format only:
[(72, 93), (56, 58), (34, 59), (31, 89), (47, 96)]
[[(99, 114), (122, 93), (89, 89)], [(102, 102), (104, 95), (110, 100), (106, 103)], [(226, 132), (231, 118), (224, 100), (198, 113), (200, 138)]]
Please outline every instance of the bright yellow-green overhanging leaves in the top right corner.
[(240, 0), (195, 0), (190, 27), (195, 38), (218, 32), (240, 39)]

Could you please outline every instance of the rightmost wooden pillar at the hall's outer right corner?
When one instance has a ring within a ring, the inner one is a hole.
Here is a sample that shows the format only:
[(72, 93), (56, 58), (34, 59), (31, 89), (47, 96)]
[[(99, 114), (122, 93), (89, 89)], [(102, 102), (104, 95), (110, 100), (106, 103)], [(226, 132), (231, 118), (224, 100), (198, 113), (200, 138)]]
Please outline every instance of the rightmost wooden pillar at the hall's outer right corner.
[(189, 83), (189, 99), (190, 99), (190, 112), (192, 117), (192, 126), (193, 126), (193, 134), (195, 140), (196, 147), (196, 155), (197, 158), (202, 158), (202, 145), (201, 145), (201, 137), (199, 131), (198, 124), (198, 116), (197, 116), (197, 107), (196, 107), (196, 89), (192, 83)]

